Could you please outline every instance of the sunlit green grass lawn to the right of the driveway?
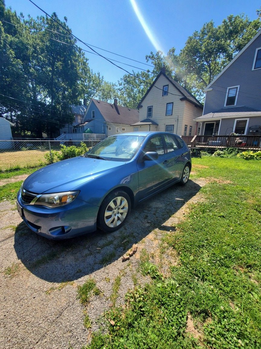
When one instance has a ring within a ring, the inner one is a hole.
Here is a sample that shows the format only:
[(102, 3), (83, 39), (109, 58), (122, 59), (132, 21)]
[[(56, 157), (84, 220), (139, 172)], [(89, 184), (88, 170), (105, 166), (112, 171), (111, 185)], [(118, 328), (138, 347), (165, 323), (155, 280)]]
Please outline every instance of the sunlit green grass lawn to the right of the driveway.
[(261, 348), (261, 162), (203, 157), (193, 165), (191, 179), (220, 180), (163, 238), (178, 265), (165, 278), (144, 250), (140, 268), (152, 283), (105, 314), (115, 325), (94, 334), (90, 348)]

